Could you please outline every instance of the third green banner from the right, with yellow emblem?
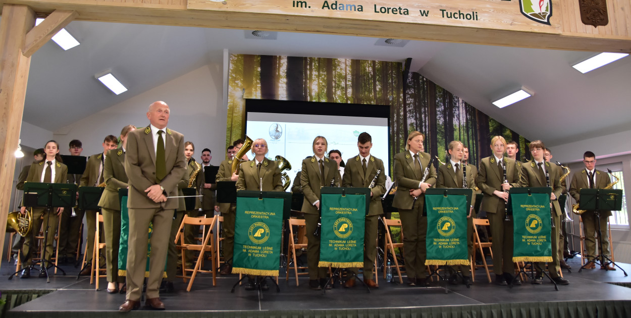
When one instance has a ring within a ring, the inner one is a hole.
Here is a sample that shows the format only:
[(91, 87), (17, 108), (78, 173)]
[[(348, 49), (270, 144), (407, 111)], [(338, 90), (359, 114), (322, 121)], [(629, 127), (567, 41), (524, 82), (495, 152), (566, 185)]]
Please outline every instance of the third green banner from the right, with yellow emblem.
[(319, 267), (363, 266), (366, 196), (322, 194)]

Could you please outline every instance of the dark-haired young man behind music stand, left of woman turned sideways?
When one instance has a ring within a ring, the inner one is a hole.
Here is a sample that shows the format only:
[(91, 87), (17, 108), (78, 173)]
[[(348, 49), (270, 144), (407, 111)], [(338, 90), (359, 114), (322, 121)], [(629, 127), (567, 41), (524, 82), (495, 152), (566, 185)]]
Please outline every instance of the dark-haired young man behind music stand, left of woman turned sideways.
[[(100, 186), (105, 182), (105, 178), (103, 177), (103, 162), (105, 162), (105, 157), (107, 156), (107, 151), (116, 149), (118, 146), (118, 138), (114, 135), (108, 135), (103, 139), (103, 152), (97, 153), (96, 155), (91, 155), (88, 158), (88, 163), (85, 166), (85, 172), (81, 176), (81, 187), (96, 187)], [(88, 264), (92, 261), (92, 254), (94, 251), (94, 236), (97, 232), (97, 210), (86, 210), (85, 211), (85, 220), (86, 227), (88, 228), (87, 235), (87, 243), (88, 249), (86, 250), (85, 261), (86, 265), (83, 267), (83, 271), (81, 271), (81, 275), (89, 275), (90, 274), (90, 266)], [(102, 238), (98, 238), (99, 242)], [(105, 260), (99, 257), (98, 260), (100, 266), (105, 265)], [(103, 264), (101, 264), (103, 263)]]

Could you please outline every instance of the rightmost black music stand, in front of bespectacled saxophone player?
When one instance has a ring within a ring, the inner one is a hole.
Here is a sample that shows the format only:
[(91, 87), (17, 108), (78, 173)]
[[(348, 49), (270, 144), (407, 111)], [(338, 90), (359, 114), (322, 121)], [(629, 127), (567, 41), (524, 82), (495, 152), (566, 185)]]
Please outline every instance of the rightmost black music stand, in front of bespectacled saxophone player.
[[(609, 264), (613, 264), (617, 268), (620, 268), (622, 273), (627, 275), (624, 269), (622, 269), (618, 264), (612, 261), (608, 256), (603, 253), (603, 233), (600, 230), (600, 212), (601, 211), (620, 211), (622, 209), (622, 189), (581, 189), (579, 193), (581, 196), (581, 201), (579, 202), (579, 209), (582, 210), (592, 210), (594, 211), (594, 215), (596, 216), (596, 227), (598, 228), (598, 256), (594, 256), (593, 259), (590, 259), (585, 265), (581, 266), (579, 269), (579, 273), (581, 273), (582, 269), (587, 266), (587, 264), (594, 263), (598, 261), (601, 266), (604, 266), (604, 269), (608, 271), (607, 266)], [(613, 246), (610, 246), (610, 249), (613, 249)], [(607, 262), (605, 262), (605, 259)]]

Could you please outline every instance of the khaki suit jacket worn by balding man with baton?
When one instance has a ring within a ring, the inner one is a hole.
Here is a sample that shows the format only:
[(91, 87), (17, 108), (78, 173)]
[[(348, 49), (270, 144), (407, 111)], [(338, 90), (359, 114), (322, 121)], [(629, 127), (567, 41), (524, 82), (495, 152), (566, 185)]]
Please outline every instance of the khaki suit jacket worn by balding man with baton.
[[(186, 172), (186, 157), (184, 156), (184, 136), (179, 132), (165, 129), (165, 167), (167, 175), (160, 182), (167, 196), (177, 196), (177, 183)], [(158, 184), (156, 182), (156, 154), (153, 149), (153, 135), (151, 128), (136, 129), (127, 135), (127, 153), (125, 158), (125, 172), (129, 178), (128, 208), (160, 208), (177, 209), (177, 200), (155, 203), (149, 199), (146, 190)]]

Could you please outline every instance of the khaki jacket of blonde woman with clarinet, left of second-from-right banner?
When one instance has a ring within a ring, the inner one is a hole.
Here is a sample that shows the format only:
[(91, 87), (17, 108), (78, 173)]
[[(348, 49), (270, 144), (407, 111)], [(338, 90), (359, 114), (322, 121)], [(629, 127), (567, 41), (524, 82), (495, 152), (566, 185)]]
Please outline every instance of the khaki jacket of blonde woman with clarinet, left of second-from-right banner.
[[(397, 191), (394, 192), (394, 199), (392, 200), (394, 208), (412, 208), (414, 197), (410, 196), (410, 189), (418, 189), (418, 184), (423, 178), (425, 168), (429, 165), (430, 159), (430, 154), (423, 151), (418, 153), (418, 160), (421, 162), (421, 175), (416, 175), (414, 172), (414, 157), (410, 155), (410, 151), (406, 150), (394, 155), (394, 180), (397, 182)], [(432, 186), (436, 184), (436, 169), (433, 165), (430, 166), (425, 182)]]

